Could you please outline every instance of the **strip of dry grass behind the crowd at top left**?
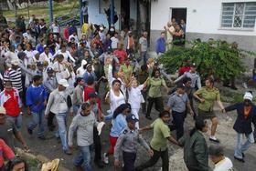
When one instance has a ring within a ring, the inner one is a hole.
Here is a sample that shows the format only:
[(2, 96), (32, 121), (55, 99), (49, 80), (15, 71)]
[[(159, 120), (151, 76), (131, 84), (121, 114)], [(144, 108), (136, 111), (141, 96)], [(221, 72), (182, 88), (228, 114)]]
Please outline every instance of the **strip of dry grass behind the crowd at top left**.
[[(61, 15), (68, 15), (71, 10), (76, 11), (79, 8), (79, 1), (70, 1), (69, 3), (55, 3), (53, 2), (53, 16), (54, 18)], [(9, 10), (4, 11), (4, 15), (7, 20), (15, 19), (15, 11)], [(17, 15), (24, 15), (27, 18), (27, 8), (18, 9)], [(46, 6), (29, 6), (29, 15), (36, 15), (37, 18), (44, 18), (47, 22), (49, 21), (48, 16), (48, 5)], [(28, 19), (28, 18), (27, 18)]]

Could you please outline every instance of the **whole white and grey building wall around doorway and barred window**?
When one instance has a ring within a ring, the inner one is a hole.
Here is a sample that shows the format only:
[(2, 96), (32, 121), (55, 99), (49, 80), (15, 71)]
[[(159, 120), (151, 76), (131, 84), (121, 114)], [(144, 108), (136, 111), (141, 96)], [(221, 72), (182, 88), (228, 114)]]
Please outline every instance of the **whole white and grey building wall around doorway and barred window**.
[[(151, 43), (155, 42), (164, 25), (170, 20), (170, 8), (187, 8), (187, 38), (220, 38), (238, 42), (240, 48), (256, 50), (256, 29), (234, 30), (220, 27), (221, 3), (255, 2), (252, 0), (158, 0), (151, 3)], [(151, 44), (151, 47), (153, 47)]]

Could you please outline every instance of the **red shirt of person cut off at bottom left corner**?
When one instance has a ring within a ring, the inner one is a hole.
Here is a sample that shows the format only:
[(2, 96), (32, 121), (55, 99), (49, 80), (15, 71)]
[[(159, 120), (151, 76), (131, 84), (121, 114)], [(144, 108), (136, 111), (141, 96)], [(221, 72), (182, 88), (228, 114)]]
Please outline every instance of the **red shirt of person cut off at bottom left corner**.
[(16, 156), (10, 146), (7, 146), (5, 144), (5, 141), (3, 139), (0, 139), (0, 168), (5, 164), (4, 157), (10, 160), (15, 158)]

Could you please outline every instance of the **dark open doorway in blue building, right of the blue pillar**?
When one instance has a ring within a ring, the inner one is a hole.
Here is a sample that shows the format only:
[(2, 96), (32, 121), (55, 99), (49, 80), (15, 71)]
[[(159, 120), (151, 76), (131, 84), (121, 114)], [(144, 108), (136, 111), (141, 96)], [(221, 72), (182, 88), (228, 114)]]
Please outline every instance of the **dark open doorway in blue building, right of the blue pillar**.
[(130, 22), (130, 0), (121, 1), (121, 29), (129, 28)]

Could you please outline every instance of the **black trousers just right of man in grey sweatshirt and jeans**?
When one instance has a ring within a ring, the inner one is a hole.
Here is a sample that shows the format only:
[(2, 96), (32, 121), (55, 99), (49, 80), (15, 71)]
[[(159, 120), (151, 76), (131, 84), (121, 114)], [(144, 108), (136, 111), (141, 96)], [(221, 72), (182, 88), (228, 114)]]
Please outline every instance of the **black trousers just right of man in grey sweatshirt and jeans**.
[(98, 135), (97, 127), (93, 127), (94, 162), (101, 161), (101, 136)]

